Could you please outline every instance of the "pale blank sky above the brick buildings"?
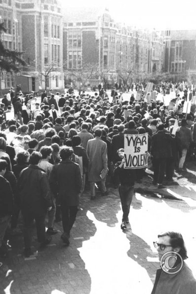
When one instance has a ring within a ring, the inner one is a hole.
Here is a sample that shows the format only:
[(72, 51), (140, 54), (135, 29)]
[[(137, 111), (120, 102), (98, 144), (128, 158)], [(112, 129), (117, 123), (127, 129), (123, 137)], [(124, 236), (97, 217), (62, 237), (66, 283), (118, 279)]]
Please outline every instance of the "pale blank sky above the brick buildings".
[(107, 7), (112, 18), (127, 25), (148, 29), (196, 30), (196, 0), (61, 0), (69, 7)]

